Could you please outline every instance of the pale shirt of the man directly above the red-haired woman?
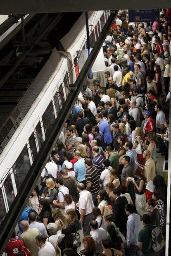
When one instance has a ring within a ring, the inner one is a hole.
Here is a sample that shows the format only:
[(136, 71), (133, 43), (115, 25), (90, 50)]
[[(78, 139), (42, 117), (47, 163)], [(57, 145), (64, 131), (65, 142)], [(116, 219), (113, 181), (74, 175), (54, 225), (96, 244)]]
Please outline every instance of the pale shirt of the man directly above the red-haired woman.
[(95, 240), (96, 244), (97, 244), (97, 250), (96, 253), (102, 253), (103, 249), (102, 249), (102, 239), (104, 239), (106, 237), (106, 230), (104, 230), (104, 228), (100, 227), (97, 228), (97, 230), (92, 230), (90, 232), (91, 237), (93, 237), (93, 239)]

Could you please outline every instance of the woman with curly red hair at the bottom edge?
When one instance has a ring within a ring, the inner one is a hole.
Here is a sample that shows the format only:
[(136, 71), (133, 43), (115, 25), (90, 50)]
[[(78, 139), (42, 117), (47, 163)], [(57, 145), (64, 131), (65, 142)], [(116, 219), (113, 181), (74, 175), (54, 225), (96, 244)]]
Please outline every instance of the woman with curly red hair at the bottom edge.
[(82, 256), (94, 256), (96, 253), (95, 240), (91, 236), (85, 236), (83, 238), (83, 255)]

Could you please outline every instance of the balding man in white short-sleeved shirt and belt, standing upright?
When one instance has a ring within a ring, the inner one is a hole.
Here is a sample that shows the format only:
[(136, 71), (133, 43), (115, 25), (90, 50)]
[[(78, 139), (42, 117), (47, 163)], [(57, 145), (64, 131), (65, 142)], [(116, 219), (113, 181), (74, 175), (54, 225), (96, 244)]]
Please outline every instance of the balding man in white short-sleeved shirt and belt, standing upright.
[(93, 208), (94, 203), (92, 199), (92, 194), (85, 189), (85, 185), (83, 183), (77, 184), (77, 190), (80, 195), (78, 204), (76, 206), (79, 208), (80, 213), (80, 223), (83, 227), (84, 237), (90, 234), (90, 220), (93, 219)]

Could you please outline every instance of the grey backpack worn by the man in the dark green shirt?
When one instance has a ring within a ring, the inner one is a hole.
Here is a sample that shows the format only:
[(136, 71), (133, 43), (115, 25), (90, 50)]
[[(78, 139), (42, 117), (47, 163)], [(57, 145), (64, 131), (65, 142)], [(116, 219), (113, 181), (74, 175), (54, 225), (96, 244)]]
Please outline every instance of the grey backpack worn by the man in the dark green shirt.
[(161, 232), (159, 227), (154, 227), (154, 229), (152, 230), (152, 236), (150, 239), (150, 244), (148, 249), (150, 250), (151, 248), (154, 251), (160, 251), (164, 246), (164, 239), (161, 236)]

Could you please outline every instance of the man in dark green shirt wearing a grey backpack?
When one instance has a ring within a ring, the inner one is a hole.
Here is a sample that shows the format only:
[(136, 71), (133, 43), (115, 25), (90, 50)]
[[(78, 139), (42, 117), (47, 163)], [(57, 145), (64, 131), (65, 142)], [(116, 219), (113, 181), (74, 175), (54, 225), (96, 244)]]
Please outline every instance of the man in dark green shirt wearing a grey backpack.
[(149, 249), (150, 239), (152, 237), (152, 230), (154, 226), (150, 225), (150, 215), (142, 215), (142, 223), (144, 227), (138, 234), (138, 247), (142, 251), (142, 256), (158, 256), (159, 252), (155, 252), (152, 247)]

